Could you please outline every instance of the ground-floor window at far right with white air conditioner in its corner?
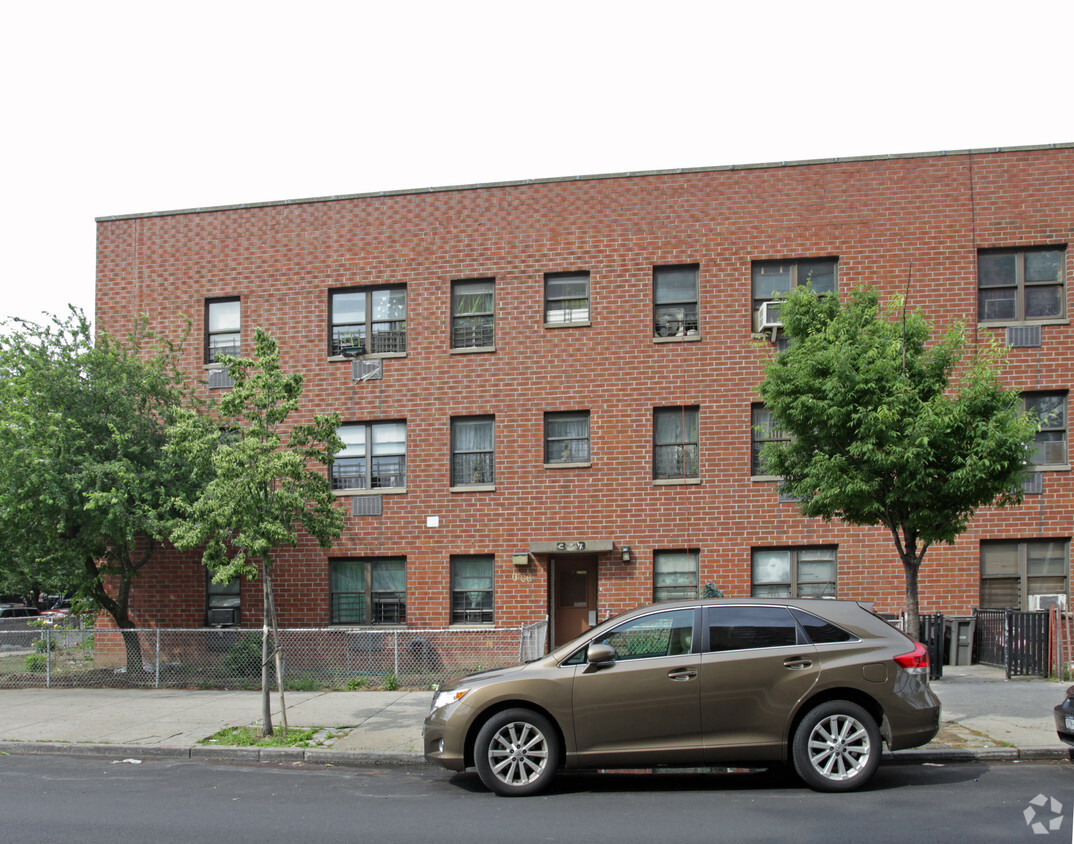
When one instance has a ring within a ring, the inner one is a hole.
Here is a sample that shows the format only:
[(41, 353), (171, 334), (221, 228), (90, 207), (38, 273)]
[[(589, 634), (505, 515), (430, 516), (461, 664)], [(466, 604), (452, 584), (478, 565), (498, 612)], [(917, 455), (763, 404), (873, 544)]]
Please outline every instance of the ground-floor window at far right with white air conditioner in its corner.
[(981, 543), (981, 606), (1035, 610), (1037, 596), (1066, 603), (1069, 540)]

